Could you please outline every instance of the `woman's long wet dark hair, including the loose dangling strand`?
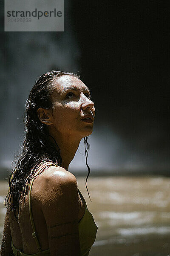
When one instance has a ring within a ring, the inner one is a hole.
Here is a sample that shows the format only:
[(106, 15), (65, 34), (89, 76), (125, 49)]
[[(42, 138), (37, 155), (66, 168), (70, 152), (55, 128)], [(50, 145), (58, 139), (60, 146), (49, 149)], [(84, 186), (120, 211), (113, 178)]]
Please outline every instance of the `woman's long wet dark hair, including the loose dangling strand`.
[[(77, 74), (62, 71), (51, 71), (45, 73), (35, 81), (26, 101), (26, 109), (23, 118), (26, 126), (26, 137), (24, 138), (21, 148), (22, 153), (20, 154), (17, 163), (15, 160), (16, 166), (12, 168), (12, 172), (8, 180), (10, 191), (6, 195), (4, 202), (8, 211), (14, 211), (15, 218), (17, 218), (16, 212), (19, 210), (20, 200), (21, 198), (24, 198), (28, 192), (31, 179), (33, 177), (37, 177), (37, 175), (34, 176), (37, 167), (41, 166), (45, 161), (51, 162), (45, 164), (40, 172), (42, 173), (48, 166), (60, 166), (62, 163), (60, 149), (57, 142), (48, 134), (48, 125), (40, 122), (37, 109), (40, 107), (50, 109), (52, 107), (51, 95), (55, 88), (53, 81), (64, 75), (79, 78)], [(54, 141), (55, 146), (50, 143), (50, 138)], [(90, 174), (90, 168), (87, 163), (89, 150), (88, 136), (84, 137), (83, 140), (85, 146), (86, 165), (88, 167), (88, 175), (86, 177), (85, 185), (88, 191), (86, 184)]]

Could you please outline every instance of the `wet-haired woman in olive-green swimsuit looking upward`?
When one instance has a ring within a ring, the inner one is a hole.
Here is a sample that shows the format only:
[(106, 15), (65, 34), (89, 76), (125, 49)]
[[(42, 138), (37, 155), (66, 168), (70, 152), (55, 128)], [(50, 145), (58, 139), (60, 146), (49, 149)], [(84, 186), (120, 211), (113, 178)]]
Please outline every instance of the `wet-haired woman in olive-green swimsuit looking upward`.
[(1, 256), (89, 254), (97, 226), (68, 166), (82, 138), (87, 164), (90, 98), (73, 73), (45, 73), (32, 88), (23, 154), (9, 178)]

